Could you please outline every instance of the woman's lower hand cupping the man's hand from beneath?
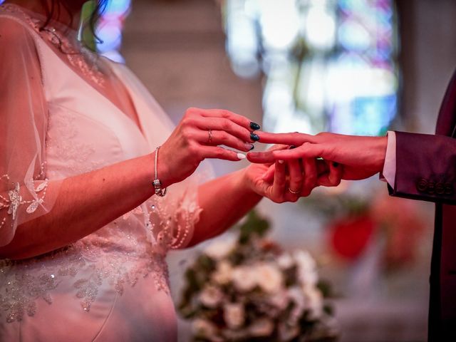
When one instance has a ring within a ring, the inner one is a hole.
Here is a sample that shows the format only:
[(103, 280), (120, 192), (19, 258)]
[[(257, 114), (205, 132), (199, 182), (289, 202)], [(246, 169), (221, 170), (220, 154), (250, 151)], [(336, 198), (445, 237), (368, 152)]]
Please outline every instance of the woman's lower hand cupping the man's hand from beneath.
[[(268, 152), (286, 150), (288, 145), (274, 145)], [(245, 170), (245, 180), (257, 194), (276, 203), (296, 202), (309, 196), (315, 187), (337, 186), (341, 182), (341, 167), (325, 160), (275, 161), (252, 164)]]

